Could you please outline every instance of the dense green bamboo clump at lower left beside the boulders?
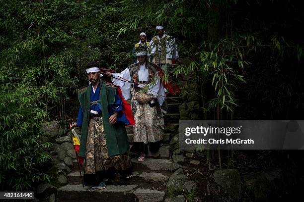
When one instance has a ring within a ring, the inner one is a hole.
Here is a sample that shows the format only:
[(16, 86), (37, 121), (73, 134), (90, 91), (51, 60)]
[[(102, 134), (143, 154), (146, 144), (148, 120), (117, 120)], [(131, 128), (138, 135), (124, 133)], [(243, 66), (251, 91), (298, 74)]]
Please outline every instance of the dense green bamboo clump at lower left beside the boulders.
[(49, 179), (41, 167), (50, 159), (50, 144), (40, 141), (39, 132), (47, 113), (36, 102), (39, 89), (13, 83), (7, 71), (0, 71), (0, 92), (0, 184), (30, 191)]

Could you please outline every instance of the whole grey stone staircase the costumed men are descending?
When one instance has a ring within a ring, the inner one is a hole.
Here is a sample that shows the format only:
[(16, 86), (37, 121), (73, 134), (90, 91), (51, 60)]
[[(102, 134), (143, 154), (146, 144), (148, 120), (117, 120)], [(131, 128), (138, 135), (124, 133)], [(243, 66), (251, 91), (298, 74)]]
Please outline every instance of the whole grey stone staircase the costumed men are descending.
[[(169, 97), (168, 113), (164, 117), (163, 144), (157, 152), (157, 157), (147, 157), (144, 162), (138, 162), (137, 156), (130, 153), (134, 165), (133, 177), (125, 179), (115, 174), (114, 179), (107, 182), (107, 187), (95, 192), (88, 192), (88, 186), (82, 187), (77, 161), (68, 174), (68, 184), (58, 190), (59, 202), (162, 202), (167, 191), (166, 183), (172, 172), (182, 167), (170, 158), (169, 145), (174, 131), (179, 125), (178, 106), (181, 97)], [(133, 144), (133, 126), (127, 127), (129, 143)], [(82, 170), (83, 173), (83, 170)]]

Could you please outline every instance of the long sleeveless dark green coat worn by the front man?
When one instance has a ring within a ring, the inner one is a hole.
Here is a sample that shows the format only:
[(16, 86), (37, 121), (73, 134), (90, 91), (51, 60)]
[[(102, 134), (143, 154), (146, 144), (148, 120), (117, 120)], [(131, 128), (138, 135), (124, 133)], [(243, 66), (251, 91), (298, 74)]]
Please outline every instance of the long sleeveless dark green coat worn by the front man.
[[(115, 102), (116, 86), (105, 83), (102, 80), (99, 80), (99, 85), (103, 128), (108, 147), (108, 156), (124, 154), (129, 151), (130, 148), (126, 128), (121, 123), (117, 122), (111, 125), (109, 122), (108, 105), (114, 104)], [(82, 157), (85, 157), (86, 153), (86, 138), (90, 118), (89, 110), (91, 88), (92, 85), (90, 84), (86, 91), (78, 93), (78, 99), (83, 112), (81, 141), (78, 155)]]

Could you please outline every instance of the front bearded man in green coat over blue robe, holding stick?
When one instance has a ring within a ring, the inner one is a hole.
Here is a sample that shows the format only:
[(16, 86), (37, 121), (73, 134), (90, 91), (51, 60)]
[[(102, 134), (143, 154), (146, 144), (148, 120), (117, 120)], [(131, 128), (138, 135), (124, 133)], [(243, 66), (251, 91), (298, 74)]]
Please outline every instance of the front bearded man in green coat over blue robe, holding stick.
[(90, 84), (78, 93), (77, 122), (70, 128), (81, 127), (78, 159), (82, 165), (85, 158), (83, 182), (91, 185), (88, 191), (93, 192), (105, 188), (105, 180), (115, 172), (132, 176), (125, 125), (134, 125), (135, 121), (119, 87), (99, 78), (96, 62), (87, 63), (86, 74)]

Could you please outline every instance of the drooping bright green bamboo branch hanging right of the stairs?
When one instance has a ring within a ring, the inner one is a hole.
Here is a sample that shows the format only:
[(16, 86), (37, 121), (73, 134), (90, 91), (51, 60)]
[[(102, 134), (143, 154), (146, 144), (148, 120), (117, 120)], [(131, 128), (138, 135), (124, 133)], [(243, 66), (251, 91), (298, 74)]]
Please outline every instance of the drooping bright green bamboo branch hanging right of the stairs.
[[(272, 52), (280, 52), (280, 42), (274, 36), (271, 39), (273, 46), (263, 45), (258, 35), (236, 34), (232, 38), (226, 38), (217, 43), (204, 44), (200, 53), (201, 64), (196, 66), (199, 74), (206, 75), (211, 79), (216, 98), (209, 101), (209, 110), (220, 106), (220, 109), (232, 111), (232, 105), (236, 106), (235, 91), (239, 82), (245, 83), (244, 67), (251, 65), (250, 57), (256, 51), (268, 47)], [(190, 67), (191, 68), (191, 67)], [(193, 67), (192, 67), (193, 69)]]

